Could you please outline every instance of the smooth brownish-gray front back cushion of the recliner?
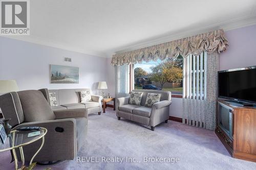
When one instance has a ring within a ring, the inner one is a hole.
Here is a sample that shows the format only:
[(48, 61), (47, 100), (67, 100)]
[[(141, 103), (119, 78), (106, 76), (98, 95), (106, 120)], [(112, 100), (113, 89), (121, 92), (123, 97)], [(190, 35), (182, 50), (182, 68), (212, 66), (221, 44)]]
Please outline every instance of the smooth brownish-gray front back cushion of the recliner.
[(24, 122), (38, 122), (55, 119), (50, 105), (39, 90), (18, 91), (25, 117)]

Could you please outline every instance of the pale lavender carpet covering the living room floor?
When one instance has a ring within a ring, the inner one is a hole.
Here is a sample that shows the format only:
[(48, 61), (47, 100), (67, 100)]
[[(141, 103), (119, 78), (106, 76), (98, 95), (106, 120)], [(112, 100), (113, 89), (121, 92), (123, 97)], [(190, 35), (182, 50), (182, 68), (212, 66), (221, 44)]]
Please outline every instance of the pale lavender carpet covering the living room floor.
[[(67, 160), (35, 169), (256, 169), (256, 163), (231, 158), (213, 131), (172, 121), (155, 131), (149, 128), (117, 120), (111, 108), (105, 114), (90, 114), (87, 144), (77, 155), (83, 162)], [(0, 169), (13, 168), (9, 153), (0, 154)], [(106, 163), (108, 158), (116, 162)], [(150, 158), (155, 162), (146, 162)], [(165, 162), (156, 162), (160, 158)]]

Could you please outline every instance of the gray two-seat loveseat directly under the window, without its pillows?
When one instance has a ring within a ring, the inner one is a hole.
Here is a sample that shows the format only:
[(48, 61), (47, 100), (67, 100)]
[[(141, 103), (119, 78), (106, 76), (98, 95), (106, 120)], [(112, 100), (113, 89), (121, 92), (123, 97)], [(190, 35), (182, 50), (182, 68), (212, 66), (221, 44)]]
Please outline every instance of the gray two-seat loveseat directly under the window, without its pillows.
[[(151, 130), (155, 130), (158, 124), (168, 122), (169, 119), (169, 106), (172, 104), (171, 92), (160, 90), (133, 90), (143, 92), (140, 106), (129, 104), (130, 96), (117, 99), (117, 118), (121, 117), (134, 122), (145, 125), (150, 125)], [(152, 107), (145, 107), (147, 93), (161, 94), (160, 102), (155, 103)]]

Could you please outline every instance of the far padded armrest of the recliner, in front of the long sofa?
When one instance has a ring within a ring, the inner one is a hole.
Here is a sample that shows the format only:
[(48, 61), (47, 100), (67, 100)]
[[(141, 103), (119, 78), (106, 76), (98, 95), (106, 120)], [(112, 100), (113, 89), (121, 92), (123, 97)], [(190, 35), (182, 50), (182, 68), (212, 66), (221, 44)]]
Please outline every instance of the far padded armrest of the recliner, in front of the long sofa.
[(56, 116), (56, 119), (75, 118), (75, 117), (88, 118), (88, 113), (86, 109), (55, 110), (53, 112)]

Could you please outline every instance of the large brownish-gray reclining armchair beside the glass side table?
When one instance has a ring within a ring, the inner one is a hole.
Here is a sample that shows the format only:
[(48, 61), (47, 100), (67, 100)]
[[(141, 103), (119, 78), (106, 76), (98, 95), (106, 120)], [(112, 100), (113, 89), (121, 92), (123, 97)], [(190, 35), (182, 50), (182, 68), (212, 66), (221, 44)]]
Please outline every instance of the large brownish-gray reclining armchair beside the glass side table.
[[(73, 160), (87, 136), (87, 111), (84, 108), (53, 112), (48, 100), (48, 89), (10, 92), (0, 96), (0, 107), (4, 118), (11, 118), (12, 130), (31, 126), (48, 130), (35, 162)], [(25, 159), (30, 160), (40, 145), (38, 140), (23, 147)]]

